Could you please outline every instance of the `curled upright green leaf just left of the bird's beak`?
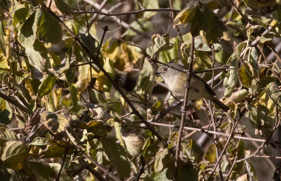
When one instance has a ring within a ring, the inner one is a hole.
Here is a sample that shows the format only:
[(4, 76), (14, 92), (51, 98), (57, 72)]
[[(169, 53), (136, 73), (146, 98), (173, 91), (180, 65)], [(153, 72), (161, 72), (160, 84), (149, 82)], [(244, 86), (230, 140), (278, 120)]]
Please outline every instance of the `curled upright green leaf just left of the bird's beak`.
[(143, 69), (140, 71), (137, 82), (137, 96), (143, 103), (147, 103), (151, 98), (151, 92), (154, 85), (154, 71), (147, 59), (144, 60)]

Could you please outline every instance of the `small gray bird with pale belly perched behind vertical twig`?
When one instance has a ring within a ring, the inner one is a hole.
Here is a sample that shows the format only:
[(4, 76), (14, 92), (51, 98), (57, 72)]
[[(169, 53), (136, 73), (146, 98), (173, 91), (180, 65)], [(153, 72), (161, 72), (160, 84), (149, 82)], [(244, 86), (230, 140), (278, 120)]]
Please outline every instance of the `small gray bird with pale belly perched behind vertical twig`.
[[(187, 71), (183, 66), (177, 63), (169, 62), (169, 66), (162, 65), (158, 68), (158, 71), (155, 72), (155, 75), (160, 75), (168, 89), (179, 99), (184, 99), (185, 86), (187, 81), (187, 75), (183, 72), (180, 72), (176, 69), (171, 68), (171, 66)], [(223, 111), (227, 112), (230, 108), (221, 102), (218, 98), (215, 97), (216, 93), (210, 87), (210, 85), (205, 82), (200, 76), (192, 75), (190, 85), (189, 85), (189, 94), (188, 100), (195, 101), (201, 98), (209, 99), (216, 105), (218, 105)]]

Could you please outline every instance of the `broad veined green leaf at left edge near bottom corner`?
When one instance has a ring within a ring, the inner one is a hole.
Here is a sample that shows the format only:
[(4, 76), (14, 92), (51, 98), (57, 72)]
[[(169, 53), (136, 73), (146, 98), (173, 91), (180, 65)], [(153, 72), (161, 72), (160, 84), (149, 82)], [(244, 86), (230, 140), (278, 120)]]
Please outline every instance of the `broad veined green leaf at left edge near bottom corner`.
[(27, 157), (28, 148), (22, 141), (7, 141), (1, 148), (1, 165), (15, 171), (22, 169), (23, 162)]

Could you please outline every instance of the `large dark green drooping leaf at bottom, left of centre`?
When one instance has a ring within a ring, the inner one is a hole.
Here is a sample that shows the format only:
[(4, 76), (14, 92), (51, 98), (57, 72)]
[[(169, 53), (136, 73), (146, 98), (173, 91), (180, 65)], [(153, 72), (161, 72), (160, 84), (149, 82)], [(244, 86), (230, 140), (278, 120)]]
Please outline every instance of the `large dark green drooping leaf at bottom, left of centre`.
[(131, 166), (121, 145), (106, 136), (100, 137), (100, 150), (103, 156), (116, 167), (117, 173), (121, 179), (129, 177)]

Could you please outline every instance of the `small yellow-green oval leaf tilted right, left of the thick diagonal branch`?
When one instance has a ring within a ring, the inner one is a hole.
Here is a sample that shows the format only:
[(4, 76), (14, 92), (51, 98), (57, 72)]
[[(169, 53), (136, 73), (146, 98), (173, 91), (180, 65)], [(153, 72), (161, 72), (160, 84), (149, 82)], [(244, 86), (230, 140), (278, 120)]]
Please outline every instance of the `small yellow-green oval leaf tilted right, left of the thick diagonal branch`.
[(49, 94), (56, 83), (56, 76), (54, 74), (49, 74), (41, 83), (39, 89), (38, 89), (38, 97), (45, 96)]

